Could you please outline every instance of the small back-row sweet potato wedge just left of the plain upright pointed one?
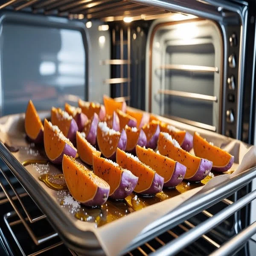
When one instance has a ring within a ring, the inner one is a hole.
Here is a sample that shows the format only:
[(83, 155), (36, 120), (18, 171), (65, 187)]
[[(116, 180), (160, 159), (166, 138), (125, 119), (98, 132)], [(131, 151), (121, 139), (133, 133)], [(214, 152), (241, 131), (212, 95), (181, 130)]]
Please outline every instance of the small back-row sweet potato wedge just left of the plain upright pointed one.
[(100, 120), (103, 120), (106, 115), (105, 106), (99, 103), (85, 102), (79, 99), (78, 106), (81, 108), (82, 113), (84, 113), (89, 119), (93, 118), (94, 113), (99, 116)]

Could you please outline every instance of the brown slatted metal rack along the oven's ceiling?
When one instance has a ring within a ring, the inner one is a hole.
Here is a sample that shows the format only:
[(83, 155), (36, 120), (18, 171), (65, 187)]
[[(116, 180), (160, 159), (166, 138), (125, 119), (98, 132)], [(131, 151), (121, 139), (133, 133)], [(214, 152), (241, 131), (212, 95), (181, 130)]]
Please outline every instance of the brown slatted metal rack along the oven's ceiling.
[(156, 17), (165, 17), (170, 13), (164, 9), (132, 3), (129, 0), (9, 0), (0, 5), (0, 9), (3, 8), (72, 19), (116, 21), (126, 18), (127, 22), (141, 19), (151, 20)]

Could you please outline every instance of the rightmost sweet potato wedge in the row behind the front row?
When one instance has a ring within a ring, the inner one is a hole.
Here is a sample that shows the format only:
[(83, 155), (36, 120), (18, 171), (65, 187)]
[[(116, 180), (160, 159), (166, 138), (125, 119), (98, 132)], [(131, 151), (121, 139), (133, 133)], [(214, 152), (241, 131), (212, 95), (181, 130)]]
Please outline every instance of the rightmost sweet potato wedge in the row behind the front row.
[(160, 121), (153, 121), (157, 122), (160, 126), (160, 131), (166, 132), (172, 136), (173, 139), (177, 140), (180, 144), (181, 148), (186, 151), (190, 151), (193, 147), (193, 136), (187, 132), (177, 129), (176, 127), (166, 124)]

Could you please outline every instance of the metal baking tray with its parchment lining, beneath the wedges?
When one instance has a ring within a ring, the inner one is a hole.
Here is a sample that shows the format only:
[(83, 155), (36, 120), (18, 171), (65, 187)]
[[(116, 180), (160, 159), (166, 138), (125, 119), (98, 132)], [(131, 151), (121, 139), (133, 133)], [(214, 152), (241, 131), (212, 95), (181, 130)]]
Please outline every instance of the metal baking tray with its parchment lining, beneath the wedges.
[[(41, 119), (49, 119), (49, 112), (41, 112), (39, 115)], [(235, 156), (236, 164), (233, 167), (235, 169), (238, 167), (238, 163), (241, 163), (246, 152), (250, 154), (248, 158), (250, 160), (244, 161), (243, 165), (239, 166), (242, 167), (236, 175), (227, 174), (215, 177), (211, 180), (215, 180), (215, 183), (209, 182), (203, 189), (202, 187), (191, 189), (175, 198), (148, 206), (141, 211), (132, 212), (112, 223), (95, 228), (93, 223), (80, 221), (70, 213), (70, 209), (61, 206), (59, 192), (49, 189), (38, 179), (39, 174), (34, 166), (24, 167), (21, 164), (28, 159), (45, 159), (44, 151), (34, 145), (31, 146), (25, 139), (24, 116), (22, 113), (0, 118), (0, 157), (41, 211), (47, 215), (50, 224), (64, 243), (80, 254), (116, 255), (125, 253), (233, 194), (256, 177), (256, 163), (252, 161), (252, 159), (256, 159), (254, 147), (213, 132), (159, 117), (162, 121), (185, 129), (192, 134), (194, 131), (198, 131), (215, 145), (226, 148)], [(10, 152), (4, 143), (19, 148), (19, 151)], [(251, 168), (252, 166), (253, 168)], [(49, 169), (53, 173), (61, 172), (52, 164), (49, 165)], [(170, 200), (172, 200), (172, 206)], [(166, 205), (169, 209), (166, 209)], [(128, 225), (134, 226), (134, 229), (136, 227), (136, 232), (130, 228), (123, 239), (123, 230), (126, 230)]]

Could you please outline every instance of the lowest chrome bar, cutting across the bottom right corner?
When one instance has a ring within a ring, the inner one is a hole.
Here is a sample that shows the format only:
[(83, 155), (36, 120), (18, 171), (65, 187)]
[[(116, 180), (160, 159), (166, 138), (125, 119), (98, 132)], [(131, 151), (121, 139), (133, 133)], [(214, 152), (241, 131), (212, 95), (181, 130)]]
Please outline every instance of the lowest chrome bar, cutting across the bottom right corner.
[(242, 244), (250, 239), (256, 233), (256, 221), (246, 227), (232, 239), (221, 245), (218, 250), (215, 250), (209, 256), (228, 256), (234, 253)]

